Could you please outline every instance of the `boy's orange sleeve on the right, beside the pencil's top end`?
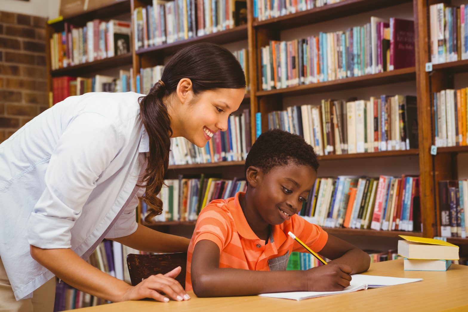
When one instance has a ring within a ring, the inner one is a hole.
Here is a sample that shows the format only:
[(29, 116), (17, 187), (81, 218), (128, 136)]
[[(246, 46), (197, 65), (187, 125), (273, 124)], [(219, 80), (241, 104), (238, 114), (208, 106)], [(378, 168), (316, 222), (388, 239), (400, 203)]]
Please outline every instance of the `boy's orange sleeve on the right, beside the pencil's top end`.
[[(307, 222), (304, 218), (294, 215), (293, 233), (310, 249), (318, 253), (327, 244), (328, 233), (320, 226)], [(307, 253), (307, 250), (294, 240), (292, 251)]]

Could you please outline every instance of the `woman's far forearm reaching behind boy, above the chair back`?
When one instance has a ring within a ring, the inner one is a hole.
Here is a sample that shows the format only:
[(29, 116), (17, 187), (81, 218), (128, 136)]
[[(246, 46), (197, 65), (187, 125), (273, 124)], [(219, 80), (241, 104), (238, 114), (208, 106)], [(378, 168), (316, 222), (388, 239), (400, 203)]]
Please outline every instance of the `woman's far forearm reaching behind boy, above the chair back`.
[(161, 233), (142, 224), (138, 224), (135, 232), (128, 236), (112, 238), (125, 246), (149, 253), (179, 253), (187, 252), (190, 239)]

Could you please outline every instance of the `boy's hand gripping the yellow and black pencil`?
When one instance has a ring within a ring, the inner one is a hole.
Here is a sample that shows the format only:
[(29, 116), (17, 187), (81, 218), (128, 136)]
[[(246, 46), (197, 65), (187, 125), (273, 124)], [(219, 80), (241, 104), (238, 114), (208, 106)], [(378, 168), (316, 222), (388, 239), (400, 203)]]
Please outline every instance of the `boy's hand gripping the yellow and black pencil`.
[(313, 267), (307, 273), (308, 291), (338, 291), (348, 287), (351, 282), (351, 267), (345, 264), (329, 263)]

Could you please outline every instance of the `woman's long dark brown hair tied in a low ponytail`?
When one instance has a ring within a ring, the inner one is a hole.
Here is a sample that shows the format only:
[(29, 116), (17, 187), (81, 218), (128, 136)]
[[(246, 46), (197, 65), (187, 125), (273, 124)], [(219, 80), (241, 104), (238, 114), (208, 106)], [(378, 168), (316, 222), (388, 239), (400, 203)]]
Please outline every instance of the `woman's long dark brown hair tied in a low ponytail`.
[(162, 201), (156, 197), (164, 185), (168, 170), (172, 129), (166, 104), (162, 99), (176, 91), (179, 81), (189, 78), (197, 95), (213, 89), (245, 88), (245, 76), (233, 53), (220, 45), (199, 43), (179, 50), (164, 67), (161, 82), (156, 82), (145, 97), (139, 98), (140, 116), (149, 137), (148, 166), (143, 175), (148, 205), (145, 221), (162, 213)]

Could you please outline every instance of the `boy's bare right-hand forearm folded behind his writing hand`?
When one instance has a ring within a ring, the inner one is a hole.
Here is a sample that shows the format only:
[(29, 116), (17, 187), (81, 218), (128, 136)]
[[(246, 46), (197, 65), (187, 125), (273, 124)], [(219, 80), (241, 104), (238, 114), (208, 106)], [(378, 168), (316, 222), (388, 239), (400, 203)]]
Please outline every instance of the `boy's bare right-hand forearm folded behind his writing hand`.
[(334, 259), (329, 263), (345, 264), (351, 267), (351, 274), (361, 273), (369, 269), (371, 258), (358, 247), (345, 242), (343, 239), (328, 235), (328, 241), (320, 251), (320, 254), (328, 259)]

